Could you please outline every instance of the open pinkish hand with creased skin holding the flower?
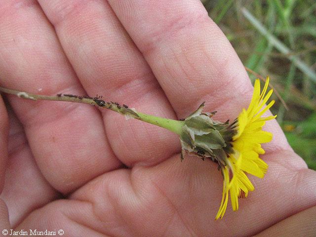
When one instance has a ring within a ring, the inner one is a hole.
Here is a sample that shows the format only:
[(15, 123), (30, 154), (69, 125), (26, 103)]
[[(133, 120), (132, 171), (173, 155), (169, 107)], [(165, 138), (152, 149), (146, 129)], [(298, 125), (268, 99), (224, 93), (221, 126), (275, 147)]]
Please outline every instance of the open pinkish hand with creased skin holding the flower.
[[(185, 118), (206, 101), (205, 111), (225, 122), (248, 106), (253, 91), (198, 0), (1, 0), (0, 44), (1, 86), (102, 94), (166, 118)], [(274, 133), (262, 156), (266, 177), (250, 177), (255, 191), (215, 221), (217, 165), (197, 157), (180, 162), (171, 132), (85, 104), (5, 98), (1, 230), (237, 237), (313, 228), (316, 173), (276, 121), (265, 126)]]

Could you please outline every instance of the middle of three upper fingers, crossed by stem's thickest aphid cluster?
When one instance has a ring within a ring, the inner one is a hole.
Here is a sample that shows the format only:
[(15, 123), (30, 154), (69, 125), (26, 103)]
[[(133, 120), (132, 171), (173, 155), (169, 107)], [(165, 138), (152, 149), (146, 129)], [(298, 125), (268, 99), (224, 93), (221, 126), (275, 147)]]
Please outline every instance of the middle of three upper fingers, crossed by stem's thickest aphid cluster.
[[(144, 113), (175, 118), (146, 61), (106, 1), (39, 2), (86, 91)], [(180, 150), (175, 135), (153, 125), (126, 121), (108, 111), (104, 123), (115, 154), (126, 165), (152, 165)]]

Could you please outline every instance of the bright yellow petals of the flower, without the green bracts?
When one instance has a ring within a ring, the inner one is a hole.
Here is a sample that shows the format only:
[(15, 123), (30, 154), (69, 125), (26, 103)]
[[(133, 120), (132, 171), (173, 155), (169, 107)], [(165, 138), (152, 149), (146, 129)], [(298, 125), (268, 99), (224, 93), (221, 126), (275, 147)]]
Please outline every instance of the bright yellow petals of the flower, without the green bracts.
[(275, 103), (273, 100), (263, 109), (273, 92), (271, 89), (266, 93), (268, 85), (269, 77), (260, 93), (260, 81), (256, 79), (250, 105), (247, 110), (243, 109), (237, 118), (237, 133), (231, 142), (234, 153), (229, 154), (227, 165), (221, 166), (224, 177), (223, 197), (216, 220), (224, 216), (229, 193), (233, 210), (236, 211), (238, 198), (247, 197), (248, 191), (254, 190), (245, 172), (259, 178), (263, 178), (267, 172), (268, 165), (259, 158), (259, 154), (265, 153), (260, 144), (270, 142), (272, 133), (263, 131), (262, 127), (265, 121), (276, 118), (276, 116), (262, 117)]

